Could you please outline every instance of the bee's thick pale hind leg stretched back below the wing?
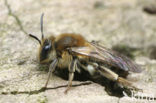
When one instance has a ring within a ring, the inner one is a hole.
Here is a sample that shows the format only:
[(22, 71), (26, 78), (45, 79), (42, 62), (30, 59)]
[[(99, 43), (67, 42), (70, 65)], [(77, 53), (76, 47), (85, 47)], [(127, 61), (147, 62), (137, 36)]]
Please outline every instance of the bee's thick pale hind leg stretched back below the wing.
[(119, 77), (118, 74), (116, 74), (115, 72), (111, 71), (110, 69), (103, 67), (103, 66), (99, 66), (99, 68), (97, 69), (101, 75), (105, 76), (106, 78), (112, 80), (112, 81), (117, 81), (118, 83), (120, 83), (122, 86), (124, 87), (128, 87), (130, 89), (135, 89), (135, 90), (139, 90), (138, 88), (136, 88), (135, 86), (132, 85), (132, 83), (122, 77)]

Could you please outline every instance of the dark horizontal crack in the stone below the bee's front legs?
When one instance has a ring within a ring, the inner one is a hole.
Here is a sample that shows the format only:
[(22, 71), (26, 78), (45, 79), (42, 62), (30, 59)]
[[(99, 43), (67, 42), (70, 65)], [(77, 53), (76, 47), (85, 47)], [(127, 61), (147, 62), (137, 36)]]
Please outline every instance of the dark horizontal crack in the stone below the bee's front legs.
[[(92, 82), (84, 82), (84, 83), (80, 83), (80, 84), (75, 84), (72, 85), (72, 87), (78, 87), (78, 86), (82, 86), (82, 85), (90, 85), (92, 84)], [(67, 85), (61, 85), (61, 86), (57, 86), (57, 87), (52, 87), (52, 88), (41, 88), (39, 90), (33, 90), (33, 91), (10, 91), (10, 92), (1, 92), (1, 95), (17, 95), (17, 94), (29, 94), (29, 95), (33, 95), (33, 94), (39, 94), (41, 92), (44, 92), (46, 90), (55, 90), (55, 89), (59, 89), (59, 88), (64, 88), (67, 87)]]

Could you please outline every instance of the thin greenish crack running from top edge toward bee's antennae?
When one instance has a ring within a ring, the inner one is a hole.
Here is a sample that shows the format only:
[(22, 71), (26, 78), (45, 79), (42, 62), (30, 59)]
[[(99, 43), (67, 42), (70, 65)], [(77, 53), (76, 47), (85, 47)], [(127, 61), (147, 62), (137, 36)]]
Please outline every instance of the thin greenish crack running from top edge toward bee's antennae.
[(15, 15), (15, 14), (12, 12), (12, 10), (11, 10), (11, 8), (10, 8), (10, 5), (8, 4), (8, 1), (7, 1), (7, 0), (5, 0), (5, 6), (6, 6), (7, 9), (8, 9), (8, 15), (12, 16), (12, 17), (16, 20), (18, 26), (20, 27), (20, 30), (21, 30), (24, 34), (27, 35), (28, 33), (24, 30), (24, 28), (23, 28), (23, 26), (22, 26), (22, 23), (21, 23), (20, 19), (18, 18), (18, 16)]

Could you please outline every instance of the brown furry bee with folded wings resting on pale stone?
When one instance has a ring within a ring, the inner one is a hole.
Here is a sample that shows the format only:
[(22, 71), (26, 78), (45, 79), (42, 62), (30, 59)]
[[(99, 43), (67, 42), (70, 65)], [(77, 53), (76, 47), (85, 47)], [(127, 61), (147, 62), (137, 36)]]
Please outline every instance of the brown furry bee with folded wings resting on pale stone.
[[(74, 72), (80, 72), (80, 68), (88, 71), (90, 75), (98, 73), (124, 87), (136, 88), (131, 81), (126, 79), (129, 72), (141, 72), (140, 66), (135, 62), (97, 42), (88, 42), (79, 34), (64, 33), (56, 37), (53, 35), (44, 37), (43, 16), (44, 14), (41, 15), (40, 21), (41, 40), (32, 34), (29, 36), (40, 44), (38, 53), (40, 64), (49, 64), (48, 79), (44, 88), (47, 87), (49, 78), (56, 68), (68, 68), (69, 80), (65, 93), (72, 86)], [(113, 67), (113, 69), (109, 67)]]

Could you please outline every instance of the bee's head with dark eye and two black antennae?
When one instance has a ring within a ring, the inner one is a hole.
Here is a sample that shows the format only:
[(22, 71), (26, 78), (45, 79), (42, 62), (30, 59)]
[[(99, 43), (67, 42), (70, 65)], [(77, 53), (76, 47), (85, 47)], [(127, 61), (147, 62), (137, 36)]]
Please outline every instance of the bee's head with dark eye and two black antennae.
[(54, 58), (56, 58), (56, 51), (54, 47), (54, 42), (55, 42), (55, 37), (51, 36), (49, 38), (44, 38), (43, 34), (43, 15), (41, 15), (41, 33), (42, 33), (42, 39), (39, 40), (36, 36), (29, 34), (30, 37), (34, 38), (37, 40), (40, 44), (39, 48), (39, 62), (44, 64), (44, 63), (49, 63), (53, 61)]

